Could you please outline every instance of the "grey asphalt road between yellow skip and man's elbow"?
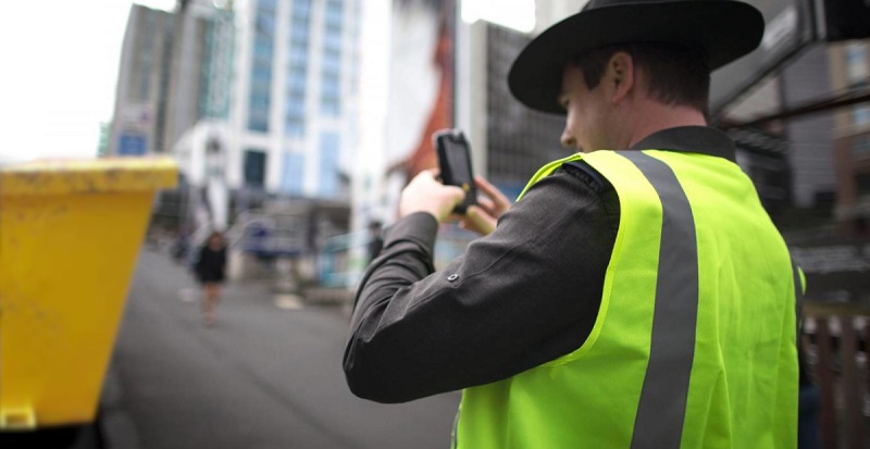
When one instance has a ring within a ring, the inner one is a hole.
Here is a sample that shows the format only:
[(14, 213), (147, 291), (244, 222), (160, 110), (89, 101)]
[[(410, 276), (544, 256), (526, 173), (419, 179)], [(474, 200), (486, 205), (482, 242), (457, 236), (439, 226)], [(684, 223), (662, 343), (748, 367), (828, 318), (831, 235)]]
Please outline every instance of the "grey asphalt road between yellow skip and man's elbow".
[(350, 394), (338, 308), (231, 285), (206, 327), (195, 287), (141, 253), (102, 397), (111, 449), (449, 447), (458, 394), (398, 406)]

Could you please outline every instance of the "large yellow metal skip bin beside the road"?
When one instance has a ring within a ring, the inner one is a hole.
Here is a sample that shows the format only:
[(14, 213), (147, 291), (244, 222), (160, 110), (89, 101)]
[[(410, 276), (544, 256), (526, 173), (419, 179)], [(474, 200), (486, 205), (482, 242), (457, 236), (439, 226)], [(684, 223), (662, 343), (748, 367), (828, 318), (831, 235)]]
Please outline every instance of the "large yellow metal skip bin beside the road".
[(0, 432), (91, 422), (169, 159), (0, 167)]

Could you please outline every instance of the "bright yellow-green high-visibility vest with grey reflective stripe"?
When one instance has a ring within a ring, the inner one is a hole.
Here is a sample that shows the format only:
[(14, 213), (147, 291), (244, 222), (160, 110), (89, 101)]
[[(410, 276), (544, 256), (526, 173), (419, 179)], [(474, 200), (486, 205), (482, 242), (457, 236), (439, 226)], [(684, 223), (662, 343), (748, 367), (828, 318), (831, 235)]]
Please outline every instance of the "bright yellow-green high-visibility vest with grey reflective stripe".
[(596, 151), (526, 190), (580, 159), (621, 213), (593, 330), (465, 389), (457, 447), (796, 447), (796, 276), (750, 179), (708, 154)]

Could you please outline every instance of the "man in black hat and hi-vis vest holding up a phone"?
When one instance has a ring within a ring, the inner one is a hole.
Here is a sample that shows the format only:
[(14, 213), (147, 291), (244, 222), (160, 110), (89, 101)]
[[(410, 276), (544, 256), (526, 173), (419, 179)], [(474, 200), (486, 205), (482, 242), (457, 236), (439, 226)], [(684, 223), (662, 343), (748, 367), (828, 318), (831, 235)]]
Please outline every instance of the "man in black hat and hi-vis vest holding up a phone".
[(710, 71), (762, 34), (736, 1), (593, 0), (534, 39), (511, 92), (581, 152), (507, 212), (478, 179), (463, 224), (490, 234), (437, 272), (462, 192), (408, 185), (357, 294), (351, 390), (462, 388), (459, 448), (795, 447), (799, 275), (705, 119)]

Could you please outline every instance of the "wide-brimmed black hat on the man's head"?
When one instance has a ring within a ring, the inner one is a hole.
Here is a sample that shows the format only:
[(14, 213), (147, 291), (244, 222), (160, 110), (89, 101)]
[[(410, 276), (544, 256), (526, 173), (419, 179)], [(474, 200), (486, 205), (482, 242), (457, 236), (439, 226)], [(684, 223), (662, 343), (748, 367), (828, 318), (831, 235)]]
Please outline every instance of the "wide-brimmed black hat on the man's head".
[(525, 105), (561, 113), (562, 71), (572, 58), (618, 43), (671, 42), (707, 54), (710, 71), (758, 47), (765, 18), (733, 0), (591, 0), (523, 49), (508, 74), (511, 93)]

